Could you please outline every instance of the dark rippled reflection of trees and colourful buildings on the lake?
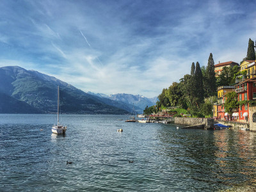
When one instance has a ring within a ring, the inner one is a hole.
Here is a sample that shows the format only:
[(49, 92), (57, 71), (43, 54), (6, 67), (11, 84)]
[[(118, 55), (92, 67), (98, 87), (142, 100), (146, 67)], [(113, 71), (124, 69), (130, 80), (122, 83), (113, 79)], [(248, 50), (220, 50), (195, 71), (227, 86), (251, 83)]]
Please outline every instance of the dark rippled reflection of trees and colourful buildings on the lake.
[(177, 170), (205, 185), (218, 183), (218, 189), (250, 183), (256, 186), (255, 132), (243, 130), (160, 129), (159, 156), (172, 162)]

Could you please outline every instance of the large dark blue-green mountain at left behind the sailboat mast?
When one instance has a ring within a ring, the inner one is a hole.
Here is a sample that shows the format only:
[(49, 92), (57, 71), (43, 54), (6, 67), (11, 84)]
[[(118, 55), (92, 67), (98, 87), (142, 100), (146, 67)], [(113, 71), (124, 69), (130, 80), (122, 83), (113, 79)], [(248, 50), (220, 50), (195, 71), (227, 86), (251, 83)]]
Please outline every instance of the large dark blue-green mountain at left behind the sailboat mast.
[[(0, 68), (0, 93), (4, 100), (0, 100), (2, 111), (8, 107), (20, 106), (24, 111), (17, 113), (56, 113), (57, 87), (60, 86), (61, 113), (80, 114), (127, 114), (124, 109), (110, 106), (106, 102), (75, 88), (74, 86), (60, 81), (55, 77), (47, 76), (35, 70), (26, 70), (21, 67)], [(8, 101), (8, 102), (7, 102)], [(1, 112), (0, 113), (4, 113)], [(15, 112), (10, 112), (15, 113)]]

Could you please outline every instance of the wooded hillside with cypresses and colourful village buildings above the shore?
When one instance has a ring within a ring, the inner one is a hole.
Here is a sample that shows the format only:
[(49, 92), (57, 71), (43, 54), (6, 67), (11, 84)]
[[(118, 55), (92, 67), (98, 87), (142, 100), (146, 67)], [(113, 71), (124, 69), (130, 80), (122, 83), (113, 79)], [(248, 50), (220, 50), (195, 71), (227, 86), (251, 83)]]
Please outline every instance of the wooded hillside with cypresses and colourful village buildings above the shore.
[(214, 118), (256, 131), (254, 42), (249, 40), (247, 56), (240, 63), (219, 61), (214, 64), (212, 54), (206, 68), (200, 67), (198, 62), (196, 67), (192, 63), (191, 74), (163, 89), (158, 99), (156, 106), (145, 109), (145, 113)]

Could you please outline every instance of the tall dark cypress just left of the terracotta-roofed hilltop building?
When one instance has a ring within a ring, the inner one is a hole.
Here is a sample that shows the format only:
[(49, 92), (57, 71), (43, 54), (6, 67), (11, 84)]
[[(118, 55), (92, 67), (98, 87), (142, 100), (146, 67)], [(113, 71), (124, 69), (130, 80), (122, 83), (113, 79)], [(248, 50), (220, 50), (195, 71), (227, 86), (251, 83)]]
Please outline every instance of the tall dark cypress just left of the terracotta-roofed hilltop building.
[(212, 53), (210, 53), (208, 64), (205, 72), (206, 77), (206, 90), (207, 93), (216, 92), (216, 77), (214, 72), (214, 60), (212, 58)]

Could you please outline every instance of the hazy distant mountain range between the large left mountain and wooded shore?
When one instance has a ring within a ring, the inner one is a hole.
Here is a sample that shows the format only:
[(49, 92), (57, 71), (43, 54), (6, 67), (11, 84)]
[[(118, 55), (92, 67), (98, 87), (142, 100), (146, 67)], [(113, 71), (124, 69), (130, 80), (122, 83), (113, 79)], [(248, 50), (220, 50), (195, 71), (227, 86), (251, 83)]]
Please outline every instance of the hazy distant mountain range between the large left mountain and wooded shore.
[(125, 108), (125, 110), (132, 111), (134, 107), (137, 113), (143, 113), (143, 110), (148, 106), (154, 106), (157, 102), (157, 97), (154, 98), (147, 98), (142, 95), (131, 95), (126, 93), (118, 93), (113, 95), (105, 95), (102, 93), (92, 93), (88, 92), (92, 95), (97, 95), (98, 97), (108, 98), (111, 100), (115, 100), (119, 104), (119, 108), (124, 108), (124, 106), (128, 107), (129, 109)]

